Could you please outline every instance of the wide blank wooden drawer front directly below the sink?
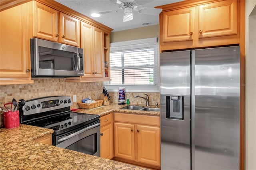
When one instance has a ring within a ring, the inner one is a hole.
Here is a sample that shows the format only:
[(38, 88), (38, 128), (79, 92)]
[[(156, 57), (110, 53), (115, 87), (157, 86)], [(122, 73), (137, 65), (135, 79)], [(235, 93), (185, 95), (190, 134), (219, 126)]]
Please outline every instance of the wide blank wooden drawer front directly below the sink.
[(160, 117), (158, 116), (114, 113), (114, 120), (118, 122), (160, 126)]

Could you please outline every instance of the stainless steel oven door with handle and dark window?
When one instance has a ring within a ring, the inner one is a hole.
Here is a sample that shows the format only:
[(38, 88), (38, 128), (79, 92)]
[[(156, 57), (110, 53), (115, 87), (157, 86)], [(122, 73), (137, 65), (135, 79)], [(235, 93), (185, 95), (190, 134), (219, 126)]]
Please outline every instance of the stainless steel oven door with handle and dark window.
[(56, 136), (56, 146), (100, 156), (100, 123)]

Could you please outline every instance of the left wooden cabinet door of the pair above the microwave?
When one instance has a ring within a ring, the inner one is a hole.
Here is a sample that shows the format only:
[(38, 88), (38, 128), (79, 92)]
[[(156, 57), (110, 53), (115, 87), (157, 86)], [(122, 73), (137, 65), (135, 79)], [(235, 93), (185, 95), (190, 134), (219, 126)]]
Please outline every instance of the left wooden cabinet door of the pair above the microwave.
[(33, 36), (58, 41), (58, 11), (33, 1)]

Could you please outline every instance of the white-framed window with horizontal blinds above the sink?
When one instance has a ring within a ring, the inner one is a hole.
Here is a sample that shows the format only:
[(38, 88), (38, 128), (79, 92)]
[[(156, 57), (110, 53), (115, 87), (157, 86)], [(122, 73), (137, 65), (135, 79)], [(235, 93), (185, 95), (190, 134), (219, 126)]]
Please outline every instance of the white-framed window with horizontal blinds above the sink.
[(109, 91), (124, 86), (129, 92), (159, 92), (158, 38), (110, 44)]

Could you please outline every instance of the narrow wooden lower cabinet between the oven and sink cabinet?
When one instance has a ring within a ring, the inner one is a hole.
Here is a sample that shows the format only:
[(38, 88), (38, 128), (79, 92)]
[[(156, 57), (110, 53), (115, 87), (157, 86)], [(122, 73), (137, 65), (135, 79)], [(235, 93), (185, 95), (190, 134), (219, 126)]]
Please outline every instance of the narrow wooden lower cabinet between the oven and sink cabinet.
[(114, 157), (112, 113), (100, 118), (100, 126), (100, 157), (112, 159)]

